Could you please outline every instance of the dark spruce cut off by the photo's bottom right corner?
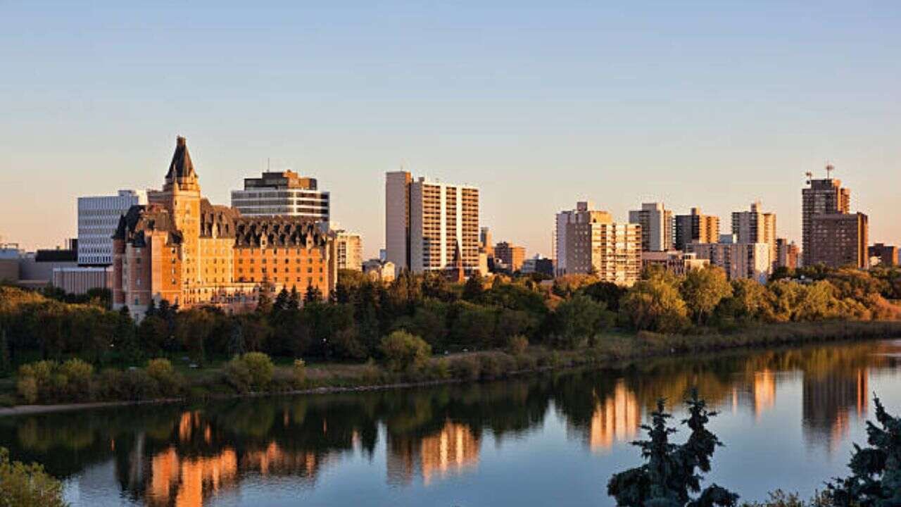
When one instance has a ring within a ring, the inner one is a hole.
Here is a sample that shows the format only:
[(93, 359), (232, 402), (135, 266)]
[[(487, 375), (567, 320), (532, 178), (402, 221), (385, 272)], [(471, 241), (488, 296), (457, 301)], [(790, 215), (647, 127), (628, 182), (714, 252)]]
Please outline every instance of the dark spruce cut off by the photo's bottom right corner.
[(889, 415), (878, 398), (876, 420), (867, 421), (869, 447), (854, 445), (851, 475), (826, 485), (840, 507), (901, 505), (901, 418)]

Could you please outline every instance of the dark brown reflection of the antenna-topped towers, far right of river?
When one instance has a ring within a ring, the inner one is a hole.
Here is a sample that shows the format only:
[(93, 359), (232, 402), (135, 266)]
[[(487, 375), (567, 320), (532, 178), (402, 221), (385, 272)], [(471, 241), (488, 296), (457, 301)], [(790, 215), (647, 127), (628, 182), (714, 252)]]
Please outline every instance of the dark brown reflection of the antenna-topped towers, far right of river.
[(863, 419), (869, 400), (869, 370), (805, 373), (802, 428), (808, 447), (833, 451), (848, 437), (851, 417)]

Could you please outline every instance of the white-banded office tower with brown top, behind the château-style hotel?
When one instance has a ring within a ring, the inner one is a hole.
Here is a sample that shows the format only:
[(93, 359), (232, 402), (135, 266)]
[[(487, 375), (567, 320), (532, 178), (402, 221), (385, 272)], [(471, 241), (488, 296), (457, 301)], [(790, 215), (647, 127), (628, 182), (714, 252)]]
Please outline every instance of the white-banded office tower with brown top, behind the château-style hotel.
[(232, 190), (232, 207), (244, 217), (284, 215), (329, 221), (329, 193), (317, 188), (314, 178), (294, 171), (266, 171), (245, 178), (243, 190)]

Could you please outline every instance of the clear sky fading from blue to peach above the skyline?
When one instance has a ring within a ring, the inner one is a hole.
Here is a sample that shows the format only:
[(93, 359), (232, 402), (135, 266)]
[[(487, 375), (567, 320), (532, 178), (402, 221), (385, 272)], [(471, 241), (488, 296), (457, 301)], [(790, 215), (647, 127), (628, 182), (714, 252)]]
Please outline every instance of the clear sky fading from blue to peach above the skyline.
[(52, 247), (76, 199), (159, 188), (177, 135), (201, 188), (267, 167), (384, 243), (385, 172), (481, 189), (496, 241), (551, 253), (591, 200), (721, 217), (762, 200), (800, 243), (832, 162), (901, 241), (897, 2), (0, 0), (0, 236)]

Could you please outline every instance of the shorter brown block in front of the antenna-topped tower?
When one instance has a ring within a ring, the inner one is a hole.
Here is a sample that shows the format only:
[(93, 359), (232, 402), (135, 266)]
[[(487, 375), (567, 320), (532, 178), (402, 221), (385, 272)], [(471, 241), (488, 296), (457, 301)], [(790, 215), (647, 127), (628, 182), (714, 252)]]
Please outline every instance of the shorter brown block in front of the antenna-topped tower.
[(867, 268), (868, 236), (869, 219), (863, 213), (815, 214), (809, 235), (810, 252), (804, 252), (805, 265)]

